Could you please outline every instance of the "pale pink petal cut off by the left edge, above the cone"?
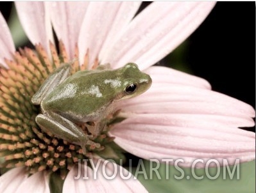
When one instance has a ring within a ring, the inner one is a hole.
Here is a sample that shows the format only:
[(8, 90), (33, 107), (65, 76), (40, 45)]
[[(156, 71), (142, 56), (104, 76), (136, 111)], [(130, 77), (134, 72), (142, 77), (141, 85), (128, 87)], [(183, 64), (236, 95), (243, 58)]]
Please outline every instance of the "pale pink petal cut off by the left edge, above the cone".
[(6, 24), (2, 13), (0, 13), (0, 26), (0, 64), (6, 67), (4, 58), (12, 59), (12, 54), (15, 52), (15, 46), (9, 27)]

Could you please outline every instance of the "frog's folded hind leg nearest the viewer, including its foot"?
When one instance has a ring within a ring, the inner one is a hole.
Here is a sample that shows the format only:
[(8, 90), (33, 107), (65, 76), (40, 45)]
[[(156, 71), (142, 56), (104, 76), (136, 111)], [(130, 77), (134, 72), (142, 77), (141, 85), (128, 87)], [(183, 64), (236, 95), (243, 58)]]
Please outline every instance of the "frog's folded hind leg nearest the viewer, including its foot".
[(100, 147), (100, 144), (90, 141), (91, 135), (85, 134), (82, 128), (55, 112), (38, 114), (35, 121), (45, 132), (51, 132), (60, 139), (80, 145), (84, 154), (86, 153), (86, 145)]

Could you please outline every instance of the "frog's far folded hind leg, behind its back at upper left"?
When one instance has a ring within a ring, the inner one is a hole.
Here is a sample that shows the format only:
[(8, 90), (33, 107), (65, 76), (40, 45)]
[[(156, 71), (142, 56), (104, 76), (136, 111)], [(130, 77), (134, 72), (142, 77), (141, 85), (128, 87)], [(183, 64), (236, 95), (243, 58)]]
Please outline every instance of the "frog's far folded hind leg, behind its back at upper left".
[(51, 93), (56, 86), (69, 77), (71, 70), (71, 63), (64, 63), (60, 65), (60, 67), (56, 68), (56, 70), (42, 83), (35, 95), (32, 96), (31, 102), (34, 105), (39, 105), (45, 96)]

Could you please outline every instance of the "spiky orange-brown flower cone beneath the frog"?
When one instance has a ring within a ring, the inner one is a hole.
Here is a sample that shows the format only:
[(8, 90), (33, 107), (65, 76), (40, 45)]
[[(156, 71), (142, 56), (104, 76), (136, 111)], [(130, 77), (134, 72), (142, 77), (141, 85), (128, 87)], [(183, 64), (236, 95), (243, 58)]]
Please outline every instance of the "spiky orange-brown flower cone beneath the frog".
[[(114, 137), (107, 134), (113, 124), (124, 120), (117, 116), (118, 112), (108, 116), (106, 127), (101, 134), (94, 137), (93, 141), (101, 146), (88, 146), (86, 155), (83, 155), (80, 146), (58, 139), (51, 133), (42, 132), (35, 123), (40, 107), (31, 103), (31, 96), (49, 73), (61, 63), (69, 61), (63, 43), (60, 42), (60, 54), (52, 43), (50, 48), (52, 59), (47, 57), (41, 45), (36, 45), (35, 50), (20, 49), (14, 54), (13, 61), (6, 59), (9, 68), (0, 69), (1, 173), (13, 167), (24, 166), (30, 174), (46, 170), (60, 173), (65, 178), (68, 171), (78, 164), (79, 159), (91, 158), (94, 154), (112, 158), (117, 162), (120, 157), (123, 158), (123, 150), (113, 142)], [(88, 58), (88, 54), (86, 57)], [(75, 58), (78, 58), (78, 54)], [(77, 59), (73, 61), (74, 72), (84, 70), (87, 66), (86, 63), (79, 65)], [(96, 60), (93, 68), (98, 65)], [(85, 127), (84, 130), (89, 132)]]

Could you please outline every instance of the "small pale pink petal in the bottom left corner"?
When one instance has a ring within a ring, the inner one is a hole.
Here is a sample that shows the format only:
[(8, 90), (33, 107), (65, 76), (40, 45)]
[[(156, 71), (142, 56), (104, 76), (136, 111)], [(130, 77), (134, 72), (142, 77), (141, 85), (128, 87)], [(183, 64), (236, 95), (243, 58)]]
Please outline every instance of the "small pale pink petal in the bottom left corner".
[(22, 181), (26, 181), (27, 178), (28, 174), (26, 173), (26, 169), (24, 167), (16, 167), (11, 169), (0, 177), (0, 192), (17, 192), (17, 189), (21, 185)]

